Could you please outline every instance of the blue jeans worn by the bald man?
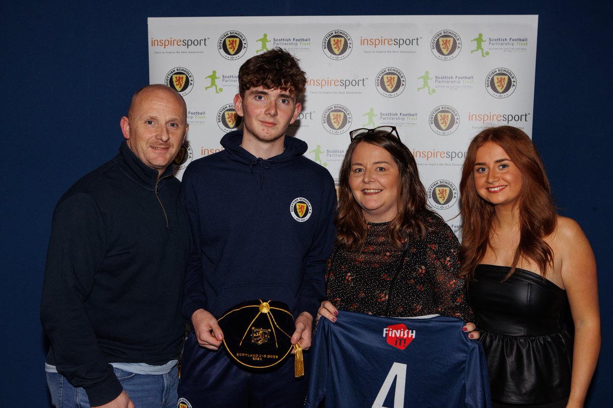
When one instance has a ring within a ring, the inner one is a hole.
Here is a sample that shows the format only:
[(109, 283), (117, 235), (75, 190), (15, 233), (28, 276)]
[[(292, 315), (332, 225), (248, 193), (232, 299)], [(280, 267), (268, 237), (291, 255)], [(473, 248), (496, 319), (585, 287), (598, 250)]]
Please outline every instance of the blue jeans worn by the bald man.
[[(128, 373), (113, 368), (121, 386), (136, 408), (177, 408), (178, 369), (159, 376)], [(81, 387), (73, 387), (66, 377), (47, 373), (51, 404), (56, 408), (89, 408), (89, 399)]]

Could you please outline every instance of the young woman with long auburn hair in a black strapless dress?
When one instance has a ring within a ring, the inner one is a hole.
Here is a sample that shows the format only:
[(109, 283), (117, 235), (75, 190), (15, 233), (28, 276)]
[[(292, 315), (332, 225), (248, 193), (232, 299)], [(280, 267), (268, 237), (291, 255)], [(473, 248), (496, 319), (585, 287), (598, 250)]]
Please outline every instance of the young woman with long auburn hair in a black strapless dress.
[(501, 126), (475, 136), (460, 193), (460, 259), (493, 406), (583, 407), (600, 350), (596, 262), (579, 225), (556, 214), (528, 135)]

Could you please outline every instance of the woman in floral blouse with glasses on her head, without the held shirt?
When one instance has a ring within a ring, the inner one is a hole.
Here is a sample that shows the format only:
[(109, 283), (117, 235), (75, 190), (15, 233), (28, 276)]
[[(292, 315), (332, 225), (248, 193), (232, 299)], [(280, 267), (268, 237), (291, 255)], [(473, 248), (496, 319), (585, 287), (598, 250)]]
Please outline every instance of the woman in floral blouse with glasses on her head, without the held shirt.
[[(417, 163), (393, 126), (350, 132), (340, 170), (337, 239), (319, 314), (427, 314), (473, 320), (459, 277), (459, 242), (427, 208)], [(472, 332), (469, 323), (465, 331)], [(478, 338), (479, 333), (470, 334)]]

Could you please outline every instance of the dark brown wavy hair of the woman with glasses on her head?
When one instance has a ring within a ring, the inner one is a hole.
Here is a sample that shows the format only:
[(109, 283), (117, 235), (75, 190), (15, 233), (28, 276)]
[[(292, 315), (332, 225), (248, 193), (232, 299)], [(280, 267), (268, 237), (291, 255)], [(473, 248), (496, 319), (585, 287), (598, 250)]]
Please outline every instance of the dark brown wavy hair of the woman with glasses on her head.
[(387, 132), (370, 132), (362, 138), (351, 141), (343, 159), (338, 185), (337, 217), (334, 224), (337, 227), (335, 244), (344, 246), (347, 250), (362, 248), (367, 232), (362, 208), (357, 204), (349, 187), (351, 155), (359, 143), (370, 143), (387, 150), (400, 171), (398, 213), (387, 228), (387, 236), (395, 247), (402, 247), (405, 237), (423, 239), (425, 232), (431, 228), (425, 226), (422, 218), (427, 215), (438, 217), (427, 208), (425, 188), (419, 179), (417, 163), (411, 151), (394, 136), (386, 135)]

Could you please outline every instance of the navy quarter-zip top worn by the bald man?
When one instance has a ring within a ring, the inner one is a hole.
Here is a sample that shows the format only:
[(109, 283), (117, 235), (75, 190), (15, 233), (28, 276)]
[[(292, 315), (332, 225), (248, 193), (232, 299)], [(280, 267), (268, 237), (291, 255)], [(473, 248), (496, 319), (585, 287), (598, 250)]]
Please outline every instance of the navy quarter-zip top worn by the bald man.
[(53, 213), (40, 302), (47, 363), (92, 406), (121, 393), (109, 363), (160, 365), (183, 344), (189, 231), (172, 166), (157, 178), (124, 142)]

